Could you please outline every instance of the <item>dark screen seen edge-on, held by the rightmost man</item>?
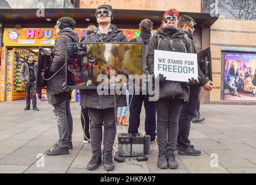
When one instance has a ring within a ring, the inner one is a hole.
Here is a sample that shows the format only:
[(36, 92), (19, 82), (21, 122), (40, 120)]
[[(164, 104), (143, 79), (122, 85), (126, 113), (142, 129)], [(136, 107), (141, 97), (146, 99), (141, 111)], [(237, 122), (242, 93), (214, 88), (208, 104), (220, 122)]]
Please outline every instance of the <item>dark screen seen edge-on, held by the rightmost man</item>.
[(210, 47), (198, 53), (199, 68), (209, 80), (213, 81), (211, 72), (211, 50)]

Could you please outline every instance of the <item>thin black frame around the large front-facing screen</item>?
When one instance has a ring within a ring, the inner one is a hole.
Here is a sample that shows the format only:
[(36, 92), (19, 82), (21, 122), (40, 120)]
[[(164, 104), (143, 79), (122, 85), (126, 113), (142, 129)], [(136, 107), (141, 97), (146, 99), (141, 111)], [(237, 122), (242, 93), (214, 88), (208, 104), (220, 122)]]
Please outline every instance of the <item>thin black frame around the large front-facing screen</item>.
[[(89, 44), (140, 44), (141, 45), (141, 75), (143, 74), (143, 54), (144, 54), (144, 47), (142, 42), (70, 42), (66, 43), (66, 54), (65, 54), (65, 61), (66, 61), (66, 66), (65, 66), (65, 84), (69, 88), (73, 89), (89, 89), (89, 90), (97, 90), (98, 86), (68, 86), (68, 45), (89, 45)], [(141, 86), (141, 84), (140, 84)], [(120, 86), (114, 86), (114, 87), (120, 87)], [(108, 86), (110, 89), (111, 86)]]

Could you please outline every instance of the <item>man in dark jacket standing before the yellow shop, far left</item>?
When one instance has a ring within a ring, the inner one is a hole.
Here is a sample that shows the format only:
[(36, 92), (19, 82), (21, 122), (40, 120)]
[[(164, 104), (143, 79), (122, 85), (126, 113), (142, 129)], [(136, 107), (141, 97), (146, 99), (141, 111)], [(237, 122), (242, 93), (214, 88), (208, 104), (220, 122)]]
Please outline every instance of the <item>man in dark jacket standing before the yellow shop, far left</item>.
[(30, 91), (32, 92), (33, 110), (39, 110), (36, 107), (36, 67), (37, 62), (34, 61), (34, 55), (28, 54), (27, 60), (24, 61), (20, 69), (20, 77), (25, 84), (26, 91), (26, 107), (24, 110), (30, 110)]

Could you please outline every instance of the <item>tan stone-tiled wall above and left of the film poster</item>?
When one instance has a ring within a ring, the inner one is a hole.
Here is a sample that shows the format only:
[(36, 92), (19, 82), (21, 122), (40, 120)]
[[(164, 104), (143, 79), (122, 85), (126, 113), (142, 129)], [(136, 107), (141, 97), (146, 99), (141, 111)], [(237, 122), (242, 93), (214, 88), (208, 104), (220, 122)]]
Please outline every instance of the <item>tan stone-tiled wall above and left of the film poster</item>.
[(211, 26), (211, 58), (214, 90), (210, 101), (221, 101), (221, 46), (256, 47), (256, 21), (218, 18)]

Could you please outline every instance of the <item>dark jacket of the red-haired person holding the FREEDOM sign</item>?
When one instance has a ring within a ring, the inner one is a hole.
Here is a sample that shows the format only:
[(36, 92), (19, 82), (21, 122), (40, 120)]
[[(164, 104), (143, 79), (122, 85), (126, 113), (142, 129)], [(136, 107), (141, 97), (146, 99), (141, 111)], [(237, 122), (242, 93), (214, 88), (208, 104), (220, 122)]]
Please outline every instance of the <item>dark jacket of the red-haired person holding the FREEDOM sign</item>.
[[(174, 50), (175, 49), (175, 50)], [(164, 32), (162, 28), (159, 28), (156, 34), (154, 34), (149, 42), (147, 65), (149, 73), (154, 73), (154, 50), (175, 51), (181, 53), (192, 53), (192, 46), (184, 36), (184, 32), (177, 31), (171, 35)], [(183, 94), (174, 97), (177, 99), (189, 99), (189, 85), (185, 82), (180, 82), (183, 90)], [(164, 86), (168, 86), (169, 82), (164, 82)], [(160, 88), (161, 91), (161, 88)]]

